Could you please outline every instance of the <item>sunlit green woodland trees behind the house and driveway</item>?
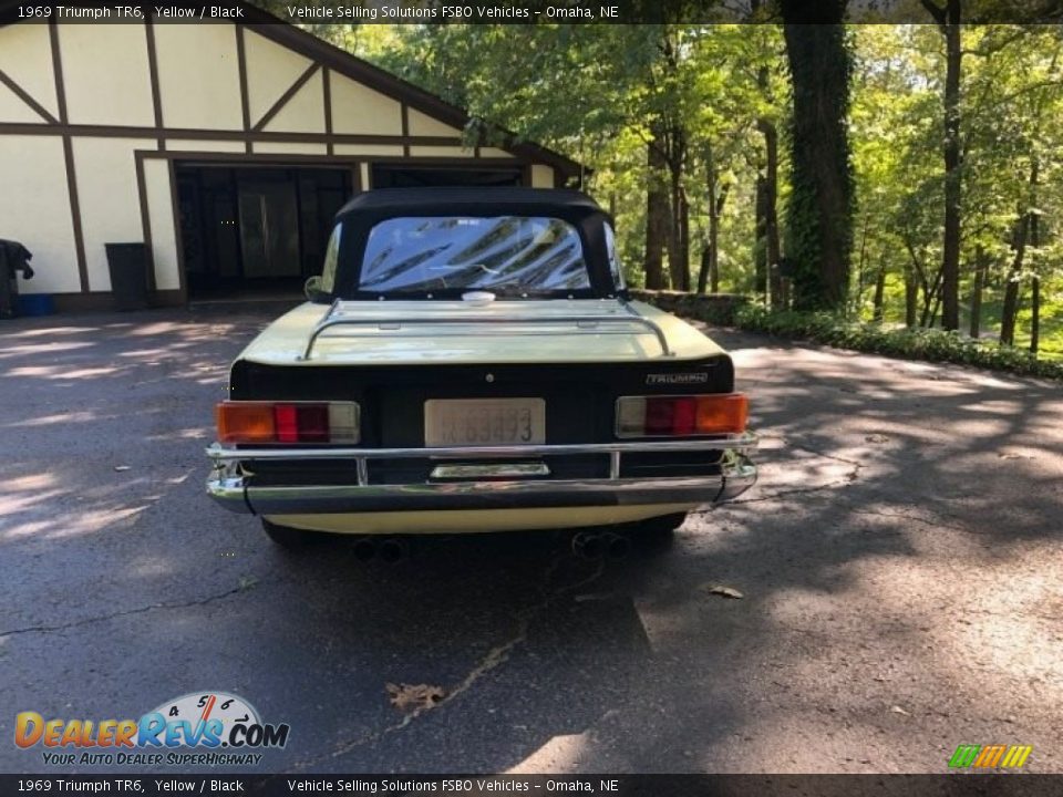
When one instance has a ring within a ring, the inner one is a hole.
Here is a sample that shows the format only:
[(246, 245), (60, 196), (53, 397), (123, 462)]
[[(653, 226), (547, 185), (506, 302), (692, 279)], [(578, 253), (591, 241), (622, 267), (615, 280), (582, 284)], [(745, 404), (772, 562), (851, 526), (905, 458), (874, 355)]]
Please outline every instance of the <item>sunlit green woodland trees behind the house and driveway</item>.
[(776, 306), (789, 288), (796, 308), (1063, 356), (1063, 34), (964, 9), (951, 41), (929, 13), (312, 30), (467, 108), (469, 144), (512, 135), (585, 164), (633, 284)]

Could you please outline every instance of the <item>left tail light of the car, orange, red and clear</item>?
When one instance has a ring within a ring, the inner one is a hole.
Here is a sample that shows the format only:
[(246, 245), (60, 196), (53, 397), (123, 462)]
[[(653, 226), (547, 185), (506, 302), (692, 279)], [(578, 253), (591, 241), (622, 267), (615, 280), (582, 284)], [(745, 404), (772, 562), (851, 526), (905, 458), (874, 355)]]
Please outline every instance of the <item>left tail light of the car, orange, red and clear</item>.
[(221, 443), (358, 443), (354, 402), (221, 402)]

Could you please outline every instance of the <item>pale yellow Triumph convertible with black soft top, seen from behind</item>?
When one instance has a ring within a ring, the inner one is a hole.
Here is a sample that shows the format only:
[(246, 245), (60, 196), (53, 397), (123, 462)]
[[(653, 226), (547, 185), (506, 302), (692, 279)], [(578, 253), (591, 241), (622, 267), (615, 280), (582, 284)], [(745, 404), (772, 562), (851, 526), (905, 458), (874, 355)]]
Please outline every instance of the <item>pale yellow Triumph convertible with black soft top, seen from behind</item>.
[[(307, 532), (668, 532), (756, 477), (731, 358), (630, 301), (586, 195), (383, 189), (231, 366), (209, 495)], [(379, 539), (379, 538), (378, 538)]]

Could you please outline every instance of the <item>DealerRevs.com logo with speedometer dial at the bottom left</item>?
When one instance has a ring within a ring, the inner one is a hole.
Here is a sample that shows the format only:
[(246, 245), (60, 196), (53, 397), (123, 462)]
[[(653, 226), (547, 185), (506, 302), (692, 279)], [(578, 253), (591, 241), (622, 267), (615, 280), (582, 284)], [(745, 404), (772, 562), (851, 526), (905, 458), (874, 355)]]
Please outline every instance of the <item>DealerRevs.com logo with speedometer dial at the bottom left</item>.
[(287, 723), (264, 723), (250, 703), (225, 692), (192, 692), (138, 720), (45, 720), (21, 712), (14, 744), (43, 747), (44, 764), (255, 765), (258, 751), (288, 744)]

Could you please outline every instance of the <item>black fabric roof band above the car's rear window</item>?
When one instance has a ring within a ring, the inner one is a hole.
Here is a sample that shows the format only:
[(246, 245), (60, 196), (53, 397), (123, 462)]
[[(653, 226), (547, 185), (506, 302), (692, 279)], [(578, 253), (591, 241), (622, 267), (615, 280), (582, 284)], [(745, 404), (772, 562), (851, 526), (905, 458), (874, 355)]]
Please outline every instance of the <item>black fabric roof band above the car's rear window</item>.
[(582, 192), (571, 188), (440, 187), (378, 188), (359, 194), (336, 215), (337, 220), (357, 214), (378, 218), (462, 213), (469, 216), (550, 213), (561, 217), (603, 210)]

